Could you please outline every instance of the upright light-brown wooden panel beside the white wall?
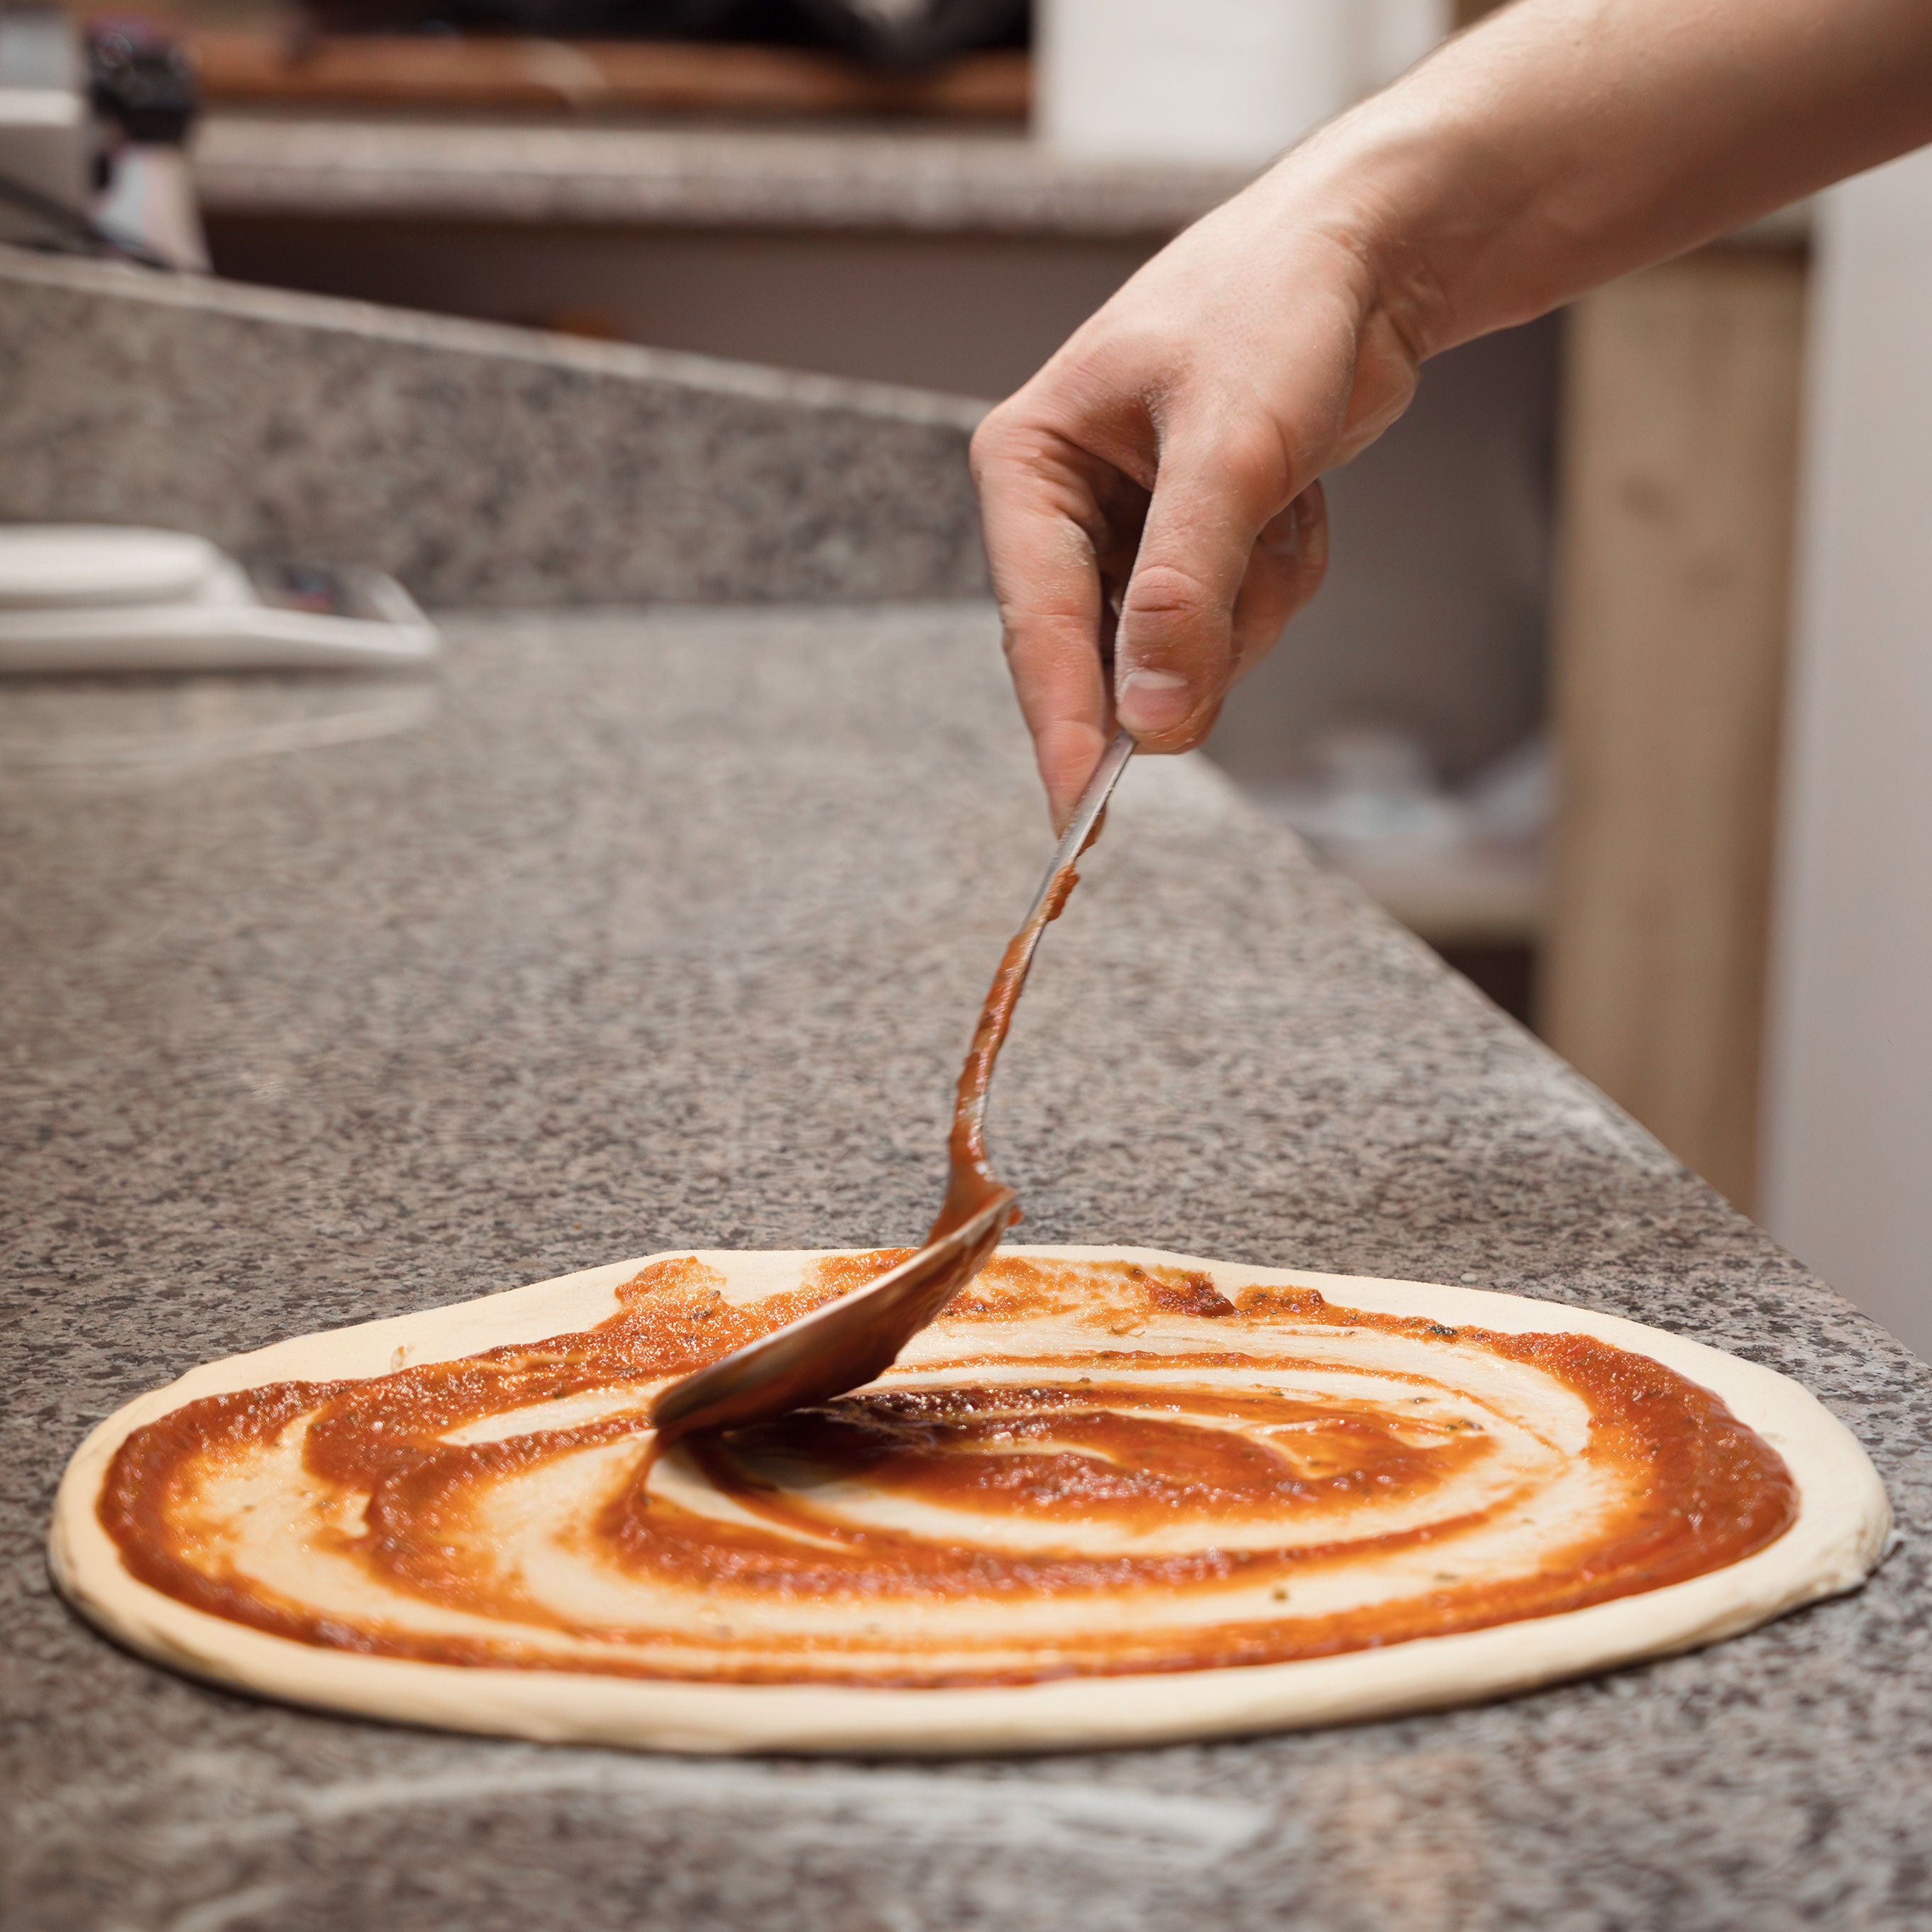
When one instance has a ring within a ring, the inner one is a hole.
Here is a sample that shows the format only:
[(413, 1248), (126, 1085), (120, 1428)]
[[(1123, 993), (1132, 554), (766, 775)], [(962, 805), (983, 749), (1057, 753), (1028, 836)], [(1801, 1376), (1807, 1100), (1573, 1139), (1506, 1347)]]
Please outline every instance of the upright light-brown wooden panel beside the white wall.
[(1750, 1208), (1804, 263), (1706, 249), (1571, 313), (1540, 1024)]

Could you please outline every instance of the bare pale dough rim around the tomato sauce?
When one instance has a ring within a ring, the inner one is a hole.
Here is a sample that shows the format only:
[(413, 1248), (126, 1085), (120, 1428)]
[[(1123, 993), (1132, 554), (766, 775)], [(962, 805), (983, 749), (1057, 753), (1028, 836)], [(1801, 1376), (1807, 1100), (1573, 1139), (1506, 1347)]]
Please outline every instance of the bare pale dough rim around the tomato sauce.
[[(1331, 1302), (1511, 1333), (1594, 1335), (1712, 1389), (1785, 1459), (1799, 1519), (1725, 1569), (1642, 1596), (1520, 1623), (1414, 1638), (1293, 1663), (1039, 1685), (866, 1690), (823, 1685), (692, 1685), (413, 1663), (321, 1650), (191, 1609), (122, 1569), (95, 1513), (108, 1461), (137, 1428), (205, 1395), (284, 1379), (381, 1376), (516, 1341), (543, 1341), (612, 1314), (616, 1289), (657, 1260), (697, 1254), (744, 1277), (796, 1279), (838, 1250), (672, 1248), (527, 1289), (346, 1329), (299, 1335), (191, 1370), (108, 1416), (60, 1482), (48, 1567), (62, 1596), (122, 1644), (214, 1685), (290, 1704), (435, 1729), (674, 1752), (952, 1756), (1080, 1750), (1308, 1729), (1490, 1698), (1594, 1675), (1735, 1636), (1803, 1604), (1855, 1590), (1876, 1567), (1891, 1507), (1851, 1432), (1797, 1381), (1719, 1349), (1563, 1302), (1308, 1269), (1248, 1267), (1157, 1248), (1012, 1248), (1059, 1260), (1204, 1269), (1217, 1287), (1318, 1289)], [(846, 1250), (850, 1252), (850, 1250)], [(402, 1356), (398, 1358), (398, 1350)]]

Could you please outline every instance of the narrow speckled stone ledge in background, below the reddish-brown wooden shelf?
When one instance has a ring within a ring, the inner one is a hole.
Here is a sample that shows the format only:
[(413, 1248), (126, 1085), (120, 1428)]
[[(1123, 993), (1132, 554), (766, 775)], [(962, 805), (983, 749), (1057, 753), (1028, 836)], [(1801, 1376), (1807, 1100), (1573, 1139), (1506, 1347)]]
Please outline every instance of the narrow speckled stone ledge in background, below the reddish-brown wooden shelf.
[(220, 112), (195, 189), (220, 214), (412, 214), (661, 228), (1169, 236), (1252, 168), (1063, 158), (1014, 133), (599, 128)]

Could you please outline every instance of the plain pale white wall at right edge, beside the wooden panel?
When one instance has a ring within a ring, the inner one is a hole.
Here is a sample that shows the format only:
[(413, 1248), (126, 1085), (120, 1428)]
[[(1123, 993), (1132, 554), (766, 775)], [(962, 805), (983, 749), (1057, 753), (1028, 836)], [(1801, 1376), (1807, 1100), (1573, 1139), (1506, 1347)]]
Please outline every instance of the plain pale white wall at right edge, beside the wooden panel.
[(1814, 290), (1764, 1219), (1932, 1356), (1932, 149)]

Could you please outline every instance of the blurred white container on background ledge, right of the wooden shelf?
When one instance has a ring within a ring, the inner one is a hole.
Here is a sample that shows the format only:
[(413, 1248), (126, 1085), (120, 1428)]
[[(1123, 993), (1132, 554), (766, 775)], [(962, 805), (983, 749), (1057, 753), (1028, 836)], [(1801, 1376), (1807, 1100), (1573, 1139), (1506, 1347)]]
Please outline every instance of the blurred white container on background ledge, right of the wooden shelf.
[(1041, 0), (1037, 131), (1094, 160), (1267, 160), (1354, 97), (1360, 6)]

